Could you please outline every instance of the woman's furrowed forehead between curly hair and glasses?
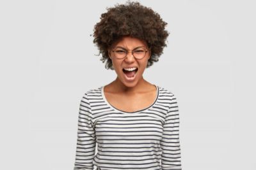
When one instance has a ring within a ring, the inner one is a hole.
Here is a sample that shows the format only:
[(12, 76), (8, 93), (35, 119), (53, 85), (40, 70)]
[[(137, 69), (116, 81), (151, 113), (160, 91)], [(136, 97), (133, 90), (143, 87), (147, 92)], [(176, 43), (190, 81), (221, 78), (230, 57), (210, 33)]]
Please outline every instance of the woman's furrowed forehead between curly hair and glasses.
[(132, 38), (130, 36), (124, 36), (121, 38), (119, 41), (117, 41), (114, 45), (115, 46), (122, 46), (124, 48), (136, 48), (138, 46), (145, 46), (147, 47), (147, 43), (145, 41), (142, 41), (141, 39), (138, 38)]

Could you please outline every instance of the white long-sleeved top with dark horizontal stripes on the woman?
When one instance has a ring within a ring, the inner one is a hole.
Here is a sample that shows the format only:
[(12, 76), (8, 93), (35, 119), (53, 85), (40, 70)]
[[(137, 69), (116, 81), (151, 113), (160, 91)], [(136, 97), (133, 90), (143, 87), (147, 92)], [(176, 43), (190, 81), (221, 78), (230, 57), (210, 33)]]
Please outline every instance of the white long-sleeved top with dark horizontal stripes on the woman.
[(154, 103), (134, 112), (111, 106), (104, 86), (88, 90), (79, 106), (74, 169), (181, 169), (177, 99), (156, 88)]

